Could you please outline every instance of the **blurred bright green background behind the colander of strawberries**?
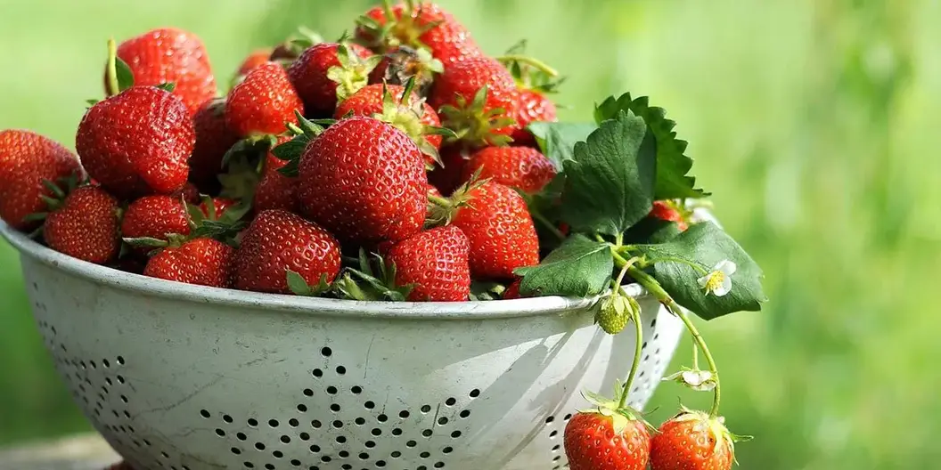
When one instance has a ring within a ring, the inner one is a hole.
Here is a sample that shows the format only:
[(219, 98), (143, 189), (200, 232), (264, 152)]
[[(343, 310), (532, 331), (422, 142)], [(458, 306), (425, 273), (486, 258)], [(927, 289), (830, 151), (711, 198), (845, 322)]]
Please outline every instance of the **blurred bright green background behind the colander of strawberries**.
[[(339, 36), (370, 3), (0, 0), (0, 129), (72, 147), (84, 100), (102, 94), (109, 36), (192, 30), (225, 81), (254, 47), (297, 24)], [(631, 91), (678, 121), (694, 173), (772, 299), (702, 326), (727, 422), (758, 437), (737, 447), (742, 468), (937, 468), (941, 2), (440, 3), (488, 52), (526, 38), (569, 76), (565, 119)], [(0, 444), (88, 430), (5, 244), (0, 264)], [(651, 420), (677, 403), (678, 387), (661, 387)]]

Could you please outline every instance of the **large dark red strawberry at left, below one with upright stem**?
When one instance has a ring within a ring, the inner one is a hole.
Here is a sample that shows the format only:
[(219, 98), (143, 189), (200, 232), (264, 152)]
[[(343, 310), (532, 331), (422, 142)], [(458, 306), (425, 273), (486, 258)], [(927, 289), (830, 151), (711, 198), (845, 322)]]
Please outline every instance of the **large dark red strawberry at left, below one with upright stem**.
[(91, 106), (75, 135), (88, 176), (125, 199), (183, 189), (195, 142), (183, 102), (154, 86), (132, 86)]

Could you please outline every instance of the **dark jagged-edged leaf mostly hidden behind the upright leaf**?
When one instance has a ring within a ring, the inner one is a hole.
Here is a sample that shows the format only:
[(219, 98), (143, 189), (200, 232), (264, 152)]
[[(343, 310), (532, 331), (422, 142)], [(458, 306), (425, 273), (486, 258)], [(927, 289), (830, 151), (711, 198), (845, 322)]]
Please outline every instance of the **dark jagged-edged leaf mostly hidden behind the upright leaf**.
[(687, 176), (693, 167), (693, 159), (683, 154), (687, 142), (679, 140), (673, 130), (676, 121), (666, 118), (666, 111), (659, 107), (650, 107), (646, 96), (636, 100), (625, 93), (619, 98), (608, 97), (595, 108), (595, 119), (601, 123), (614, 119), (621, 111), (629, 111), (644, 118), (650, 132), (657, 138), (657, 191), (656, 198), (680, 199), (686, 197), (705, 197), (709, 193), (696, 189), (695, 178)]

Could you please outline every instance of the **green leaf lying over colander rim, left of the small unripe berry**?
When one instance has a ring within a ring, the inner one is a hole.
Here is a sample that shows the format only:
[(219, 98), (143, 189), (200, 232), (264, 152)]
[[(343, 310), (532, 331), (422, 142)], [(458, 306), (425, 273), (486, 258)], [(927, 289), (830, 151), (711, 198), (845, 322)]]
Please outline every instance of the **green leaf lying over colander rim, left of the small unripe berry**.
[(538, 266), (519, 268), (519, 292), (523, 295), (589, 297), (608, 288), (614, 258), (608, 243), (593, 242), (584, 235), (569, 237)]

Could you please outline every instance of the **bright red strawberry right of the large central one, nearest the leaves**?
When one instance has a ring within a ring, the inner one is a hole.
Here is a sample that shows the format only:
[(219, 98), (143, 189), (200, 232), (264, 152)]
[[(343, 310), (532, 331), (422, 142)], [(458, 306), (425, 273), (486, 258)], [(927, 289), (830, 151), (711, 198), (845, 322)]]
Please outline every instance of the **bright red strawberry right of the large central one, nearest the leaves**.
[(452, 223), (470, 241), (474, 279), (512, 279), (515, 269), (539, 264), (533, 218), (516, 191), (487, 181), (457, 198), (467, 205), (456, 209)]

